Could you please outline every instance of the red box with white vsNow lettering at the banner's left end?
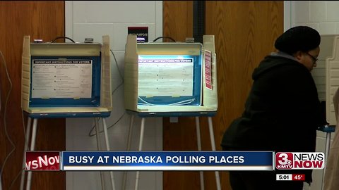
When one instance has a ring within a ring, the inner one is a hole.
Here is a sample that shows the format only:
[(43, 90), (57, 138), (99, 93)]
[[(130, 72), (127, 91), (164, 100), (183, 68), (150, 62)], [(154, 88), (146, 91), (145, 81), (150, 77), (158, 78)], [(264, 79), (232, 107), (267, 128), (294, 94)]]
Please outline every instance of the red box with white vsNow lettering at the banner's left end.
[(27, 151), (25, 170), (60, 170), (60, 153)]

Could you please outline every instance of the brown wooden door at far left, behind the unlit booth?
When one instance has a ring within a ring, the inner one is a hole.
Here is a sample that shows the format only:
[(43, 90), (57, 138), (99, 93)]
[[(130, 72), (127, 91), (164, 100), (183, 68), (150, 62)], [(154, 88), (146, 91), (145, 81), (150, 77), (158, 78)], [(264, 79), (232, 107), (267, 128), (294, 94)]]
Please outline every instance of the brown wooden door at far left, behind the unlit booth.
[[(64, 1), (0, 1), (0, 28), (0, 51), (4, 54), (8, 75), (11, 79), (10, 83), (0, 57), (1, 166), (6, 156), (11, 153), (4, 165), (2, 184), (3, 189), (10, 187), (19, 189), (26, 125), (26, 117), (22, 115), (20, 104), (23, 36), (30, 35), (31, 39), (43, 39), (44, 42), (64, 36)], [(10, 88), (11, 84), (12, 89)], [(10, 89), (11, 91), (9, 91)], [(7, 95), (8, 101), (5, 110)], [(65, 119), (38, 120), (35, 150), (64, 151), (65, 125)], [(6, 131), (11, 140), (7, 138)], [(32, 174), (32, 189), (66, 189), (65, 182), (65, 172), (33, 172)]]

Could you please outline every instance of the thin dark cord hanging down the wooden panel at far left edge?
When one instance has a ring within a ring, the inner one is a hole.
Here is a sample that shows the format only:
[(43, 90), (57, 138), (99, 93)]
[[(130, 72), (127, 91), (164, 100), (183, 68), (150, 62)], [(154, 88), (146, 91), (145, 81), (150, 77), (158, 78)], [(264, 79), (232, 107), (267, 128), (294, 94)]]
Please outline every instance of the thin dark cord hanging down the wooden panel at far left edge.
[(6, 100), (5, 100), (5, 106), (4, 106), (4, 131), (5, 131), (5, 134), (6, 134), (6, 138), (8, 139), (8, 141), (10, 142), (10, 144), (12, 146), (12, 150), (6, 156), (6, 158), (4, 160), (4, 163), (2, 164), (2, 167), (1, 167), (1, 171), (0, 171), (0, 190), (1, 190), (2, 189), (2, 181), (1, 181), (2, 173), (4, 172), (4, 167), (6, 165), (6, 162), (7, 162), (8, 158), (9, 158), (9, 156), (11, 156), (11, 154), (16, 150), (16, 145), (13, 143), (11, 137), (9, 137), (9, 135), (8, 135), (8, 132), (7, 132), (7, 121), (6, 121), (8, 99), (9, 99), (9, 95), (11, 94), (11, 91), (12, 91), (12, 88), (13, 88), (13, 84), (11, 82), (11, 77), (9, 77), (9, 74), (8, 74), (8, 70), (7, 70), (7, 65), (6, 65), (6, 61), (5, 61), (5, 58), (4, 58), (4, 54), (2, 54), (1, 51), (0, 51), (0, 54), (1, 54), (2, 62), (4, 64), (4, 68), (6, 70), (6, 76), (7, 76), (8, 82), (9, 82), (9, 89), (8, 89), (8, 92), (7, 92), (7, 96), (6, 96)]

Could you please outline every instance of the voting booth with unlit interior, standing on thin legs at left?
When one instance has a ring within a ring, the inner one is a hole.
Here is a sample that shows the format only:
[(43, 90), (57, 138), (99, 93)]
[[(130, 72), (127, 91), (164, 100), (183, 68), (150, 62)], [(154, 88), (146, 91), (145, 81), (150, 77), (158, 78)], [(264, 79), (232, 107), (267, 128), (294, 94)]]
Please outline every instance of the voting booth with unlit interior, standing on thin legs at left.
[[(109, 139), (105, 118), (112, 111), (109, 36), (99, 43), (30, 43), (23, 39), (21, 108), (28, 115), (25, 152), (35, 151), (39, 118), (102, 118), (106, 150)], [(30, 138), (31, 123), (32, 132)], [(95, 120), (97, 146), (100, 149), (99, 125)], [(30, 148), (28, 148), (30, 139)], [(113, 172), (109, 173), (115, 189)], [(102, 188), (103, 173), (100, 172)], [(32, 172), (28, 171), (26, 189), (30, 189)], [(20, 189), (24, 188), (25, 170)]]

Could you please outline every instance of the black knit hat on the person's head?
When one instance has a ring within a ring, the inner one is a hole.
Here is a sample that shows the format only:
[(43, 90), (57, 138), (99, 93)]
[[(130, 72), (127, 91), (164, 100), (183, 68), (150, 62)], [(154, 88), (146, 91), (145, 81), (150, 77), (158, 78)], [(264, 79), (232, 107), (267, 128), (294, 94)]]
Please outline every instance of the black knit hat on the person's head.
[(292, 27), (275, 40), (275, 48), (292, 55), (297, 51), (310, 51), (320, 44), (318, 31), (307, 26)]

